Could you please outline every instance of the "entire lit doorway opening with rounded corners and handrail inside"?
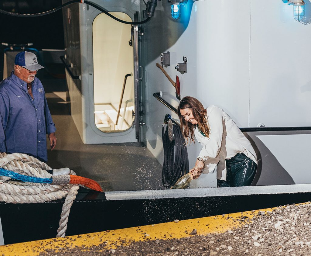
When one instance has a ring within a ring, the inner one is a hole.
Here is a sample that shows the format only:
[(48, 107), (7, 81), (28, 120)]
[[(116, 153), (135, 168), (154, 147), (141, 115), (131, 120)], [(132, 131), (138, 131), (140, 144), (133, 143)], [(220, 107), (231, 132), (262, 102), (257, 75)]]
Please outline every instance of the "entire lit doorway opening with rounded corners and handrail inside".
[[(115, 17), (132, 21), (123, 12)], [(131, 25), (111, 19), (104, 13), (93, 22), (94, 121), (103, 132), (132, 127), (134, 110), (134, 59)]]

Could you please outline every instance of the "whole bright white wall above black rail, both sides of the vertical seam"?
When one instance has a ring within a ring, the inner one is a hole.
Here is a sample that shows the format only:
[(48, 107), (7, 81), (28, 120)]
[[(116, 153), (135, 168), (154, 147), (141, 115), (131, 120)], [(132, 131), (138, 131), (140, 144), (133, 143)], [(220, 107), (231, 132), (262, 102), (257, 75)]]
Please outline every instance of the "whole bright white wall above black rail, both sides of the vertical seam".
[(311, 26), (294, 20), (293, 6), (195, 4), (202, 103), (221, 106), (240, 127), (309, 126), (311, 73), (305, 62), (311, 51), (303, 45), (311, 43)]

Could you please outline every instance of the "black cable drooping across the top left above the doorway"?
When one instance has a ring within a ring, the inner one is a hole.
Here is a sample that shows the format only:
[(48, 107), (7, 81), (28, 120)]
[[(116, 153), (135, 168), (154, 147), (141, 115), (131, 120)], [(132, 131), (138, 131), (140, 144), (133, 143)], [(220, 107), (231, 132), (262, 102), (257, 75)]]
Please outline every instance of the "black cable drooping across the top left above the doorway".
[[(72, 3), (80, 3), (80, 0), (72, 0), (72, 1), (69, 1), (67, 3), (64, 3), (58, 7), (55, 7), (54, 9), (52, 10), (49, 10), (49, 11), (46, 11), (46, 12), (40, 12), (40, 13), (30, 13), (30, 14), (27, 14), (27, 13), (15, 13), (15, 12), (7, 12), (7, 11), (4, 11), (4, 10), (1, 10), (0, 9), (0, 13), (2, 14), (7, 14), (7, 15), (11, 15), (11, 16), (15, 16), (15, 17), (23, 17), (23, 18), (30, 18), (30, 17), (39, 17), (39, 16), (44, 16), (44, 15), (47, 15), (47, 14), (51, 14), (53, 12), (56, 12), (60, 9), (62, 9), (63, 7), (67, 6), (67, 5), (70, 5)], [(123, 20), (120, 20), (118, 19), (117, 17), (114, 17), (112, 14), (110, 14), (109, 12), (107, 12), (104, 8), (96, 5), (95, 3), (92, 3), (92, 2), (89, 2), (89, 1), (84, 1), (85, 4), (88, 4), (88, 5), (91, 5), (92, 7), (96, 8), (97, 10), (107, 14), (109, 17), (113, 18), (114, 20), (116, 21), (119, 21), (119, 22), (122, 22), (124, 24), (129, 24), (129, 25), (140, 25), (140, 24), (143, 24), (147, 21), (150, 20), (151, 17), (148, 17), (146, 18), (145, 20), (143, 21), (137, 21), (137, 22), (129, 22), (129, 21), (123, 21)]]

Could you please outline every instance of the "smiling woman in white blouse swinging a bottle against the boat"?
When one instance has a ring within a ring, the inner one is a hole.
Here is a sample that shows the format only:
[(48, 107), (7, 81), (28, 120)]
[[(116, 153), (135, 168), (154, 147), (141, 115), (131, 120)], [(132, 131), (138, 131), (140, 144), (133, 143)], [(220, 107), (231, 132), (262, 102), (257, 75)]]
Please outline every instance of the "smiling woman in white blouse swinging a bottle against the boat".
[(191, 179), (212, 172), (217, 166), (217, 187), (250, 186), (257, 169), (257, 156), (249, 140), (228, 114), (214, 105), (204, 108), (193, 97), (184, 97), (178, 106), (183, 135), (203, 146)]

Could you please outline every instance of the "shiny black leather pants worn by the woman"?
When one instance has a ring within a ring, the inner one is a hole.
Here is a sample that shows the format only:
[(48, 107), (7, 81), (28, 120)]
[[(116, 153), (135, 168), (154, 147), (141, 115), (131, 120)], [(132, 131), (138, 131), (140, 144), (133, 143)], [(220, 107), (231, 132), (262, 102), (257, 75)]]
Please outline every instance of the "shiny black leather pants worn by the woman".
[(217, 187), (250, 186), (255, 178), (257, 164), (244, 154), (226, 159), (227, 180), (217, 180)]

